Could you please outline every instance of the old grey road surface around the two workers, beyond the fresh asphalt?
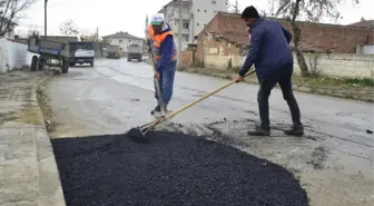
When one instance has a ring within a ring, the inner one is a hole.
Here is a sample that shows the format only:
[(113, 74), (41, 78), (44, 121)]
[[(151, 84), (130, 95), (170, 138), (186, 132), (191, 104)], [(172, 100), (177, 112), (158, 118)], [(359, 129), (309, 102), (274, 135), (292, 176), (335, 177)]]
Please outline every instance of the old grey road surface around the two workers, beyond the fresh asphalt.
[[(177, 72), (170, 102), (177, 109), (227, 80)], [(374, 105), (296, 92), (306, 136), (287, 137), (291, 116), (280, 90), (270, 96), (270, 138), (248, 137), (258, 120), (257, 86), (238, 84), (173, 118), (169, 130), (216, 137), (279, 164), (299, 177), (311, 205), (374, 205)], [(152, 118), (152, 72), (145, 62), (99, 59), (49, 85), (56, 130), (51, 138), (124, 134)], [(328, 203), (327, 203), (328, 202)]]

